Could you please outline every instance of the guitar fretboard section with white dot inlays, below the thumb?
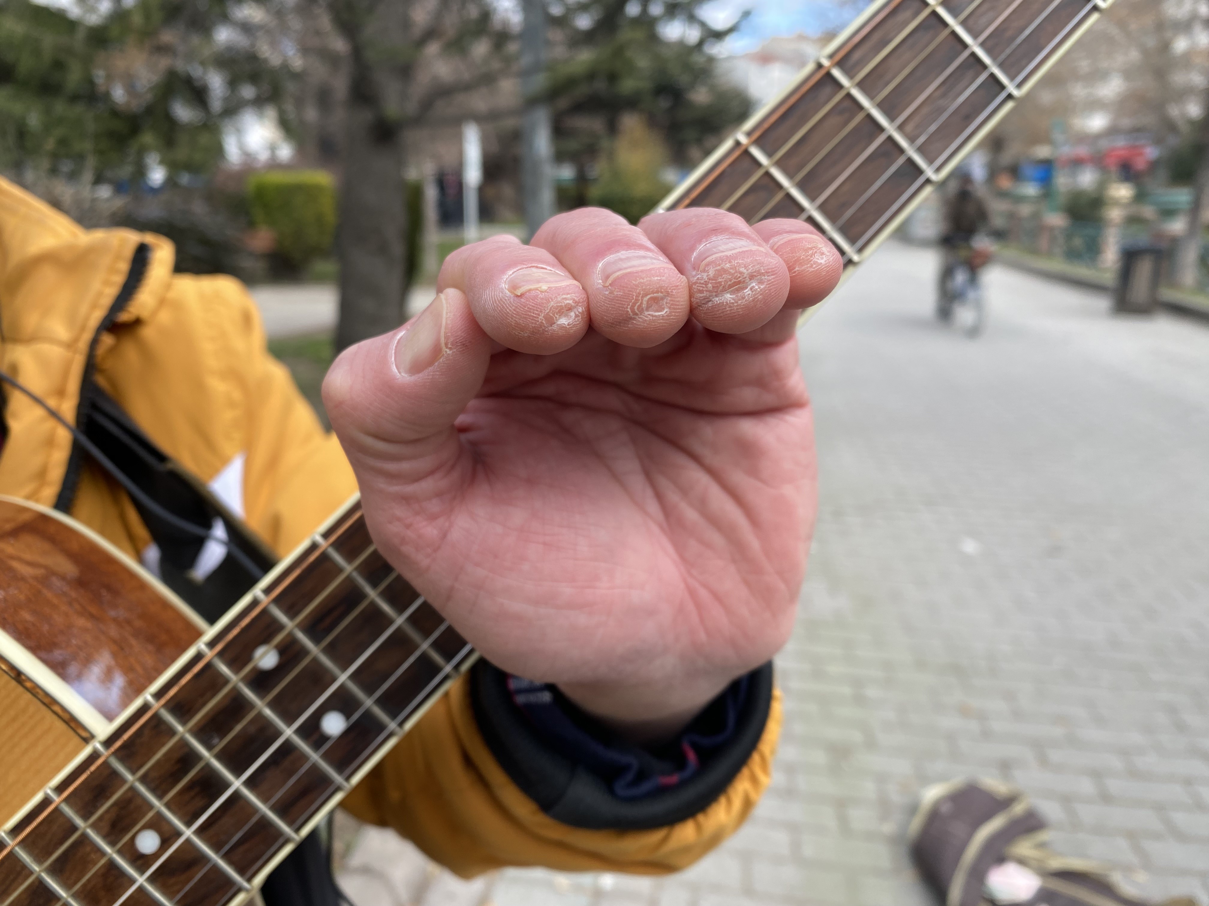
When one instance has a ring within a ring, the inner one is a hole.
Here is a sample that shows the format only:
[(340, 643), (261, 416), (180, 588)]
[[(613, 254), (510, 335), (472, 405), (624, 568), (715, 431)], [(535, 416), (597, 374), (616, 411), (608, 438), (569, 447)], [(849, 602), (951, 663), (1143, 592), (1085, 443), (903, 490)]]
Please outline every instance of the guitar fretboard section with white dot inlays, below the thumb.
[(474, 658), (349, 504), (0, 832), (0, 904), (249, 895)]

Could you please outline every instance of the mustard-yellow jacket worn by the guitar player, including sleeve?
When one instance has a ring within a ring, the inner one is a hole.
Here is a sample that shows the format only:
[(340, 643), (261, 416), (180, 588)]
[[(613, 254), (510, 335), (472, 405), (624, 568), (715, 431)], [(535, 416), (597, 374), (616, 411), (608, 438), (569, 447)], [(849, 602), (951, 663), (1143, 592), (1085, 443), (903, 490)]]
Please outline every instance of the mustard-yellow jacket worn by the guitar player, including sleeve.
[[(140, 245), (147, 248), (132, 273)], [(244, 286), (174, 274), (173, 259), (162, 237), (85, 231), (0, 179), (0, 370), (73, 423), (81, 387), (94, 377), (185, 469), (204, 482), (222, 476), (229, 505), (284, 554), (355, 490), (353, 472), (268, 355)], [(151, 542), (138, 512), (86, 457), (74, 459), (69, 432), (7, 385), (2, 423), (0, 494), (66, 503), (73, 517), (138, 559)], [(550, 802), (543, 811), (515, 779), (525, 765), (507, 771), (493, 754), (499, 748), (476, 720), (472, 685), (464, 678), (455, 686), (345, 800), (353, 814), (393, 826), (463, 876), (504, 865), (683, 869), (742, 823), (769, 780), (780, 726), (775, 693), (750, 754), (693, 814), (683, 815), (683, 802), (666, 824), (649, 803), (644, 820), (624, 818), (620, 806), (618, 820), (567, 818), (575, 809)]]

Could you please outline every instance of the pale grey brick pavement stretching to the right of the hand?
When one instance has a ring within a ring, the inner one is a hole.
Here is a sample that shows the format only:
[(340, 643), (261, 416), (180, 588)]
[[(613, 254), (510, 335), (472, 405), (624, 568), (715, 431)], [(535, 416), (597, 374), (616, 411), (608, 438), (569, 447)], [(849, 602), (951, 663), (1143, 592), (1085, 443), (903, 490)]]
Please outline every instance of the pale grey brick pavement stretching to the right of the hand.
[[(821, 511), (752, 820), (682, 875), (457, 882), (381, 831), (357, 906), (914, 906), (922, 785), (1030, 792), (1054, 846), (1209, 898), (1209, 329), (990, 274), (971, 342), (891, 244), (803, 333)], [(1143, 873), (1144, 872), (1144, 873)]]

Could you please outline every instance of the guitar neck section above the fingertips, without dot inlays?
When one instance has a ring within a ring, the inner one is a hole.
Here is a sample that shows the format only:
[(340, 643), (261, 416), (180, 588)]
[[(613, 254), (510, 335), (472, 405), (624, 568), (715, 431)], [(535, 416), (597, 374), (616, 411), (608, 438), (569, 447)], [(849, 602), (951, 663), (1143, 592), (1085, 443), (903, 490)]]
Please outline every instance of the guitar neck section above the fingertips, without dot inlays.
[(1113, 0), (877, 0), (656, 210), (796, 217), (866, 259)]

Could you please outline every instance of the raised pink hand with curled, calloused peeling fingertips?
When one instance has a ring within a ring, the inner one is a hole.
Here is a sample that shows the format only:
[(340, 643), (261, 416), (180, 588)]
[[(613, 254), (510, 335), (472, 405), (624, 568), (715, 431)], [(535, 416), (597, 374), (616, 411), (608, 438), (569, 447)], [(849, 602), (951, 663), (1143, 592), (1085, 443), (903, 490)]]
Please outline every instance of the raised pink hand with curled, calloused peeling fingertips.
[(600, 209), (450, 255), (323, 396), (383, 556), (510, 673), (637, 741), (786, 641), (815, 513), (796, 220)]

